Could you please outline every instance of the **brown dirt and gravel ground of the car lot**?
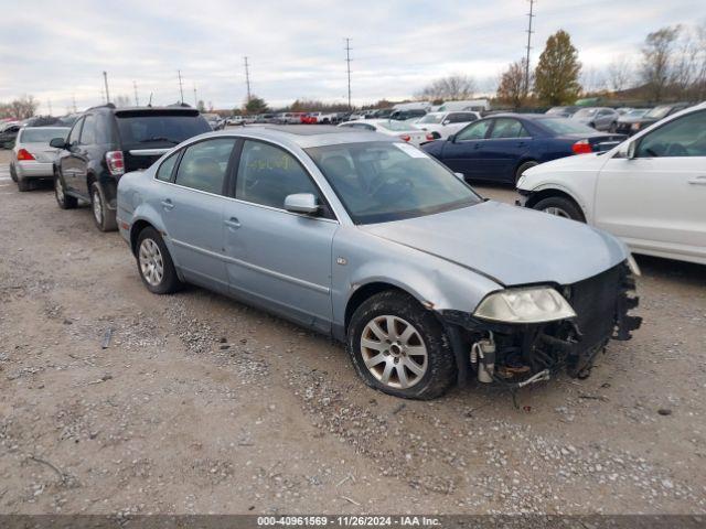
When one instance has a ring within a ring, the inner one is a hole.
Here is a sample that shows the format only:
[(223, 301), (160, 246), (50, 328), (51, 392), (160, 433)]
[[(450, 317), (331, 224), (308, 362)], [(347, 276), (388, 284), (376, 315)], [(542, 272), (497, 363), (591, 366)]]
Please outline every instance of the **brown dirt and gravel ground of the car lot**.
[(0, 170), (0, 512), (706, 512), (706, 269), (639, 262), (645, 324), (589, 379), (402, 401), (323, 336), (150, 294)]

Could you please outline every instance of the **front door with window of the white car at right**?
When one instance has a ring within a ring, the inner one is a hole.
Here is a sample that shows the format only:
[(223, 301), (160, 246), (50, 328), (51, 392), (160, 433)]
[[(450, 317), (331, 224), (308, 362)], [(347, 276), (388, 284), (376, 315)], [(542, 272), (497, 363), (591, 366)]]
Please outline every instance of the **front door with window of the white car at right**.
[(613, 156), (599, 175), (596, 225), (638, 250), (706, 259), (706, 110), (633, 141), (635, 156)]

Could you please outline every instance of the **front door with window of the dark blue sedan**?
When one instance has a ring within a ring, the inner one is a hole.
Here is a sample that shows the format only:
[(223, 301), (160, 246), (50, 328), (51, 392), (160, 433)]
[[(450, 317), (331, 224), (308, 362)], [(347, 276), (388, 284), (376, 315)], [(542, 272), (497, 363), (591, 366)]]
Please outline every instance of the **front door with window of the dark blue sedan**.
[(491, 122), (490, 119), (475, 121), (459, 131), (453, 141), (446, 141), (441, 161), (451, 171), (463, 173), (469, 180), (485, 177), (486, 168), (482, 163), (482, 151)]

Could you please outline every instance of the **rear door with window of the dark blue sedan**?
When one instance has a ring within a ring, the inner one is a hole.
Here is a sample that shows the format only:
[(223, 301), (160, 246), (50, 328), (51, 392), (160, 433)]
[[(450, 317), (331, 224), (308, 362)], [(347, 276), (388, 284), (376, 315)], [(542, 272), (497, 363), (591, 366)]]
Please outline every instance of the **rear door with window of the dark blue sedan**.
[(483, 162), (485, 176), (498, 182), (515, 182), (515, 170), (527, 156), (532, 137), (515, 118), (495, 118), (485, 140)]

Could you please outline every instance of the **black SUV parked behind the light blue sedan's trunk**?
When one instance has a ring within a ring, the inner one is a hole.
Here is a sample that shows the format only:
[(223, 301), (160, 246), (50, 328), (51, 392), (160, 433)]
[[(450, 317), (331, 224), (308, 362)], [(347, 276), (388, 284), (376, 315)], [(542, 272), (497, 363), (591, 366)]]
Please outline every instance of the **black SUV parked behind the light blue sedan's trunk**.
[(113, 104), (86, 110), (66, 140), (51, 145), (62, 149), (54, 164), (54, 191), (62, 209), (90, 202), (98, 229), (116, 224), (118, 180), (129, 171), (149, 168), (182, 141), (211, 127), (188, 106), (116, 108)]

